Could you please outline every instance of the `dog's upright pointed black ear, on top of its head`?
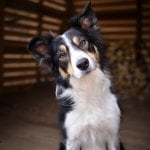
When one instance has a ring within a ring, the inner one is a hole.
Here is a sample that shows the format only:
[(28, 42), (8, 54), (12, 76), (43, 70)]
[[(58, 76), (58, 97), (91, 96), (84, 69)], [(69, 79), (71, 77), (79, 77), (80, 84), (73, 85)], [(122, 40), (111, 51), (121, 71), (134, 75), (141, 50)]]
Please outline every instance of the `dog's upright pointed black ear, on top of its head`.
[(92, 9), (91, 2), (88, 2), (81, 14), (71, 19), (71, 25), (83, 30), (94, 29), (97, 30), (97, 17)]

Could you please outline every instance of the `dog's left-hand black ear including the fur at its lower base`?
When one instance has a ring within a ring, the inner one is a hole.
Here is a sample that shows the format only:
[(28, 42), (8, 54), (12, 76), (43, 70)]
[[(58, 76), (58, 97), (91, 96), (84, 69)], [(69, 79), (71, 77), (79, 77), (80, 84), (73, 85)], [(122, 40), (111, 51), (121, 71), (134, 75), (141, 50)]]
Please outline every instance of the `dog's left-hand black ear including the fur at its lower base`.
[(35, 36), (28, 44), (27, 49), (40, 65), (44, 65), (47, 68), (52, 67), (52, 52), (51, 42), (54, 36), (49, 32), (45, 36)]

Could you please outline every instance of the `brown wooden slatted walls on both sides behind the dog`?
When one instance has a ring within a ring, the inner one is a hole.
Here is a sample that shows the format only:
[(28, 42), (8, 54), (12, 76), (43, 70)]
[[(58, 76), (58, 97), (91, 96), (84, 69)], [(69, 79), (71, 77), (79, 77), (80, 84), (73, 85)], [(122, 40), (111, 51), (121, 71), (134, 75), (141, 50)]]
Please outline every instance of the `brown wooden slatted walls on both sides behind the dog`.
[[(143, 41), (150, 46), (150, 1), (141, 2)], [(27, 53), (27, 42), (49, 30), (61, 33), (68, 18), (83, 9), (87, 0), (1, 0), (0, 93), (38, 85), (49, 80)], [(92, 0), (107, 43), (137, 40), (136, 0)]]

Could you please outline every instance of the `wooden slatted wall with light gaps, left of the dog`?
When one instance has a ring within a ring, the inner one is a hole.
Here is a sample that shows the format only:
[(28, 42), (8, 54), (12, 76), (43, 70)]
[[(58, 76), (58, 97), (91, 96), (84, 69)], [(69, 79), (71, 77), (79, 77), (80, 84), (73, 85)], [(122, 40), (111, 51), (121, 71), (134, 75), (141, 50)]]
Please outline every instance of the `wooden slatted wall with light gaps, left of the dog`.
[[(27, 42), (37, 34), (51, 30), (60, 33), (65, 0), (1, 0), (3, 13), (0, 37), (0, 93), (16, 91), (42, 83), (48, 79), (28, 54)], [(61, 16), (60, 16), (61, 15)], [(40, 71), (39, 71), (40, 70)]]

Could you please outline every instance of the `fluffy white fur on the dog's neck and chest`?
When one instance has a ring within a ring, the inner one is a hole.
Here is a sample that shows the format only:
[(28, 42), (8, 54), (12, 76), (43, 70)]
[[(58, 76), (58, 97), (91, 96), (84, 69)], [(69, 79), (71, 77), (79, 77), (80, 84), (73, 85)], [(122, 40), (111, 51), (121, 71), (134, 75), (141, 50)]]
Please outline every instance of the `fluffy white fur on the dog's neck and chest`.
[(105, 150), (108, 143), (115, 150), (120, 110), (115, 95), (110, 92), (109, 78), (96, 69), (80, 80), (71, 78), (70, 83), (75, 106), (65, 121), (68, 145), (76, 143), (83, 150)]

